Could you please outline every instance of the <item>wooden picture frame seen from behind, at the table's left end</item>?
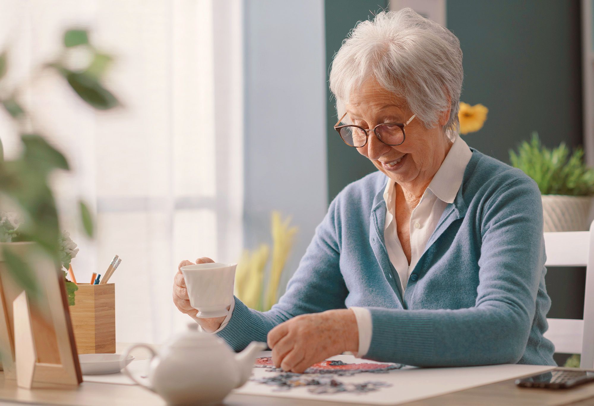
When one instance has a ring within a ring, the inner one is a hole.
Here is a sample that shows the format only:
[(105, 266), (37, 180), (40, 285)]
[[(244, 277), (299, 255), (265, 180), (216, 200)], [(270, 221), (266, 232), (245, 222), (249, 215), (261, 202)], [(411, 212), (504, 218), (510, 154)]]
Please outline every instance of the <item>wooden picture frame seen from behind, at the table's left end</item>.
[[(28, 297), (12, 278), (6, 245), (29, 264), (39, 297)], [(34, 243), (0, 243), (0, 356), (5, 378), (23, 388), (83, 382), (63, 280)]]

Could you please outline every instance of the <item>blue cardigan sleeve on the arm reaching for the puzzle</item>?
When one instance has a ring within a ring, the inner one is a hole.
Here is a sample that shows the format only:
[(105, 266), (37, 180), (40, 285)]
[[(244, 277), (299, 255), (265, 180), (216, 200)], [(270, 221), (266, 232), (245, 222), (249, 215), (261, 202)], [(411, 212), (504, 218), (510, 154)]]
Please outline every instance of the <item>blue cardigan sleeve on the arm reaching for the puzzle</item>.
[(414, 366), (520, 360), (545, 269), (538, 187), (525, 177), (498, 187), (484, 204), (481, 217), (475, 306), (455, 310), (368, 307), (372, 338), (365, 358)]

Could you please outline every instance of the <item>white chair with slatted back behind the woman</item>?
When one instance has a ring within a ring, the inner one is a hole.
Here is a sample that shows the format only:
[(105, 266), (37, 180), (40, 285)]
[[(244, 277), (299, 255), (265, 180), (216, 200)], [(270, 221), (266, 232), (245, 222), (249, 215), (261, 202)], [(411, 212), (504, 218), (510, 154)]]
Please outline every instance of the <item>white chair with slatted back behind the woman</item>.
[(590, 231), (545, 233), (547, 267), (586, 267), (583, 320), (547, 319), (545, 337), (555, 352), (581, 354), (580, 367), (594, 368), (594, 221)]

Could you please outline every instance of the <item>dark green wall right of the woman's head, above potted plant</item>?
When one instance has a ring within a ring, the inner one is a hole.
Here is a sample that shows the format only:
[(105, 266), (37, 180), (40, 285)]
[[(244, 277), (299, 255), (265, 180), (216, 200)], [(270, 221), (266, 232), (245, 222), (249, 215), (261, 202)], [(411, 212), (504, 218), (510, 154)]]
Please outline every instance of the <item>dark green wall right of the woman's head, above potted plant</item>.
[(582, 144), (580, 9), (577, 0), (448, 0), (447, 27), (460, 39), (460, 100), (488, 119), (464, 138), (508, 162), (538, 131), (544, 144)]

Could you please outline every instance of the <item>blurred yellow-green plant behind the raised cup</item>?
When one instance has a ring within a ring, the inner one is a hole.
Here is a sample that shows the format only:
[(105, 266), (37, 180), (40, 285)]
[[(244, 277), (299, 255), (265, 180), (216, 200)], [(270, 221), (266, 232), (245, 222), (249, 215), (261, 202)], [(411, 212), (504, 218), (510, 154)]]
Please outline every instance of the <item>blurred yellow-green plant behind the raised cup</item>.
[(264, 291), (264, 268), (270, 255), (270, 246), (261, 244), (254, 252), (244, 250), (237, 264), (235, 296), (251, 309), (265, 312), (277, 302), (280, 277), (298, 231), (297, 227), (289, 226), (290, 221), (290, 217), (283, 220), (278, 211), (272, 212), (272, 261), (266, 291)]

